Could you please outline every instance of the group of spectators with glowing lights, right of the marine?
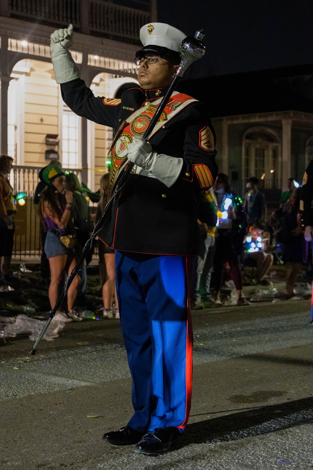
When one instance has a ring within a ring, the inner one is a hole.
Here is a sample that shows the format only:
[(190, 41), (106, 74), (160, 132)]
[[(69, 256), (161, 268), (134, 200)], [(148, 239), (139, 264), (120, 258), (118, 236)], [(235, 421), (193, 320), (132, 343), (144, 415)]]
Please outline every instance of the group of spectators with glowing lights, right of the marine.
[(258, 178), (249, 178), (242, 200), (229, 187), (228, 176), (219, 173), (214, 187), (203, 193), (191, 308), (221, 304), (221, 288), (229, 279), (237, 291), (237, 305), (246, 305), (243, 283), (269, 285), (266, 276), (274, 261), (287, 264), (286, 298), (296, 298), (298, 274), (308, 258), (300, 216), (301, 187), (296, 188), (290, 178), (277, 209), (269, 213), (259, 183)]

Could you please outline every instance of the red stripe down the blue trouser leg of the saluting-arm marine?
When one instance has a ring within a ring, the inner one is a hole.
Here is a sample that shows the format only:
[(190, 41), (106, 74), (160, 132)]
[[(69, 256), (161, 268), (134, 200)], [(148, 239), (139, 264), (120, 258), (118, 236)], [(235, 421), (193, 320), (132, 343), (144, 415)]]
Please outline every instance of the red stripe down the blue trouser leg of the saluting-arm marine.
[(190, 311), (190, 290), (189, 282), (191, 277), (191, 257), (186, 257), (186, 277), (187, 277), (187, 333), (186, 333), (186, 413), (183, 424), (177, 426), (178, 429), (184, 429), (186, 426), (190, 408), (191, 408), (191, 392), (192, 392), (192, 343), (193, 333), (191, 324)]

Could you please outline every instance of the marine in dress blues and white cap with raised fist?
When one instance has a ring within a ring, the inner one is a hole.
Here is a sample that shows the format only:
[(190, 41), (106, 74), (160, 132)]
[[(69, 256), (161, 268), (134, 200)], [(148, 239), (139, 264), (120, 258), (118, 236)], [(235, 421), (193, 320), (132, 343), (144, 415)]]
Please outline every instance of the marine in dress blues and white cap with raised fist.
[[(63, 31), (52, 35), (52, 61), (64, 102), (79, 116), (114, 128), (111, 180), (125, 157), (134, 164), (99, 234), (115, 249), (134, 415), (122, 430), (104, 437), (113, 444), (138, 443), (137, 452), (160, 454), (184, 430), (191, 406), (189, 280), (198, 249), (201, 191), (217, 174), (214, 129), (203, 103), (174, 92), (149, 142), (143, 142), (170, 82), (129, 89), (121, 99), (95, 97), (68, 51), (72, 30)], [(144, 47), (137, 63), (148, 67), (149, 61), (150, 71), (153, 60), (179, 64), (181, 31), (147, 24), (140, 38)]]

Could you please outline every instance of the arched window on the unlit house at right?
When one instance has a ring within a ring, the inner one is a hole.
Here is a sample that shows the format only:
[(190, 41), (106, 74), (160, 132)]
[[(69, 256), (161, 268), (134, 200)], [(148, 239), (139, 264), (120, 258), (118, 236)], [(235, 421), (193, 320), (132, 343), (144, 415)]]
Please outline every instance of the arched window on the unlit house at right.
[(256, 176), (260, 188), (280, 187), (280, 143), (272, 129), (253, 127), (244, 133), (243, 139), (243, 185), (247, 178)]

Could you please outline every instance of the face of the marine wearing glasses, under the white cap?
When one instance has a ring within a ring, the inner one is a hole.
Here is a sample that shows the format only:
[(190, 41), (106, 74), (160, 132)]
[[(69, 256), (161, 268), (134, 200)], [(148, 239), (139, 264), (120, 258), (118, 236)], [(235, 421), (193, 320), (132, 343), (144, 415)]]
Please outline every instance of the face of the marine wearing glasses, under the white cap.
[[(145, 57), (147, 56), (151, 57), (153, 55), (145, 55)], [(145, 90), (169, 86), (176, 70), (176, 65), (162, 59), (162, 57), (158, 57), (156, 63), (148, 63), (147, 60), (144, 60), (138, 70), (139, 85)]]

